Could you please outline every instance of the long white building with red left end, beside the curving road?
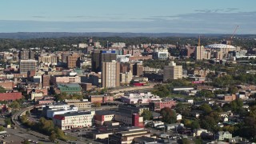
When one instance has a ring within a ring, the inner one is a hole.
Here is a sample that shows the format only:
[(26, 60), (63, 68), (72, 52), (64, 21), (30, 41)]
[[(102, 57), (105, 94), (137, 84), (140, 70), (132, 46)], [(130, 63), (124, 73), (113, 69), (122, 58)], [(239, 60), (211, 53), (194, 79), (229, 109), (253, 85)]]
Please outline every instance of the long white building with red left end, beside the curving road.
[(54, 115), (54, 125), (62, 130), (92, 126), (95, 111)]

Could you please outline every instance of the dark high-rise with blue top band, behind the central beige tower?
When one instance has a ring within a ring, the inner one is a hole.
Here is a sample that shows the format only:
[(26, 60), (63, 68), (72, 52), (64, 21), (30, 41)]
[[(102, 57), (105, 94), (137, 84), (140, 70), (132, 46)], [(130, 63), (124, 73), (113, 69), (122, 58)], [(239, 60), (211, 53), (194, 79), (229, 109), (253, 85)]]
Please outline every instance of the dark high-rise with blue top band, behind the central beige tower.
[(91, 66), (94, 72), (102, 71), (102, 62), (112, 62), (117, 59), (114, 50), (94, 50), (91, 57)]

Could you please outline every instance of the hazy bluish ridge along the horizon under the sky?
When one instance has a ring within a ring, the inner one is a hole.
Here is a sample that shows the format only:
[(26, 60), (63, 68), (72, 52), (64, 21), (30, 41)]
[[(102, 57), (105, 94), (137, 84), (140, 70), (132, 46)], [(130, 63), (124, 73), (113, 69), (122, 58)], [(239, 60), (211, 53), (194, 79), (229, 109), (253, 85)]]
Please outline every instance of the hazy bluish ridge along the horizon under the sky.
[[(45, 33), (0, 33), (0, 38), (16, 38), (16, 39), (30, 39), (30, 38), (63, 38), (63, 37), (122, 37), (122, 38), (135, 38), (135, 37), (151, 37), (151, 38), (164, 38), (164, 37), (180, 37), (180, 38), (194, 38), (202, 35), (203, 37), (211, 38), (227, 38), (229, 34), (179, 34), (179, 33), (68, 33), (68, 32), (45, 32)], [(243, 38), (256, 38), (256, 35), (243, 34), (239, 35)]]

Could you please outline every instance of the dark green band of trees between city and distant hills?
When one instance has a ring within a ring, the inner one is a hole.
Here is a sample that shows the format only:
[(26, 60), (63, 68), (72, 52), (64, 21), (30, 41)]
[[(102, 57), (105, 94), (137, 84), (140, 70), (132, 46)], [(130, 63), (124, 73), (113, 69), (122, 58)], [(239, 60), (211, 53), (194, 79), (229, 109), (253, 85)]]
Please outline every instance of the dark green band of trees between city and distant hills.
[[(62, 48), (71, 46), (71, 44), (78, 44), (81, 42), (86, 43), (88, 37), (65, 37), (65, 38), (31, 38), (31, 39), (6, 39), (0, 38), (1, 50), (8, 50), (10, 48), (30, 48), (30, 47), (55, 47)], [(101, 42), (102, 46), (106, 46), (106, 42), (125, 42), (126, 46), (139, 45), (141, 43), (158, 43), (158, 44), (173, 44), (178, 43), (178, 47), (190, 44), (191, 46), (198, 45), (198, 38), (179, 38), (179, 37), (166, 37), (166, 38), (150, 38), (150, 37), (135, 37), (135, 38), (121, 38), (121, 37), (94, 37), (94, 42)], [(213, 43), (222, 42), (222, 38), (202, 38), (202, 46)], [(256, 47), (254, 38), (234, 38), (232, 45), (242, 46), (242, 48)]]

